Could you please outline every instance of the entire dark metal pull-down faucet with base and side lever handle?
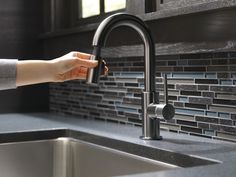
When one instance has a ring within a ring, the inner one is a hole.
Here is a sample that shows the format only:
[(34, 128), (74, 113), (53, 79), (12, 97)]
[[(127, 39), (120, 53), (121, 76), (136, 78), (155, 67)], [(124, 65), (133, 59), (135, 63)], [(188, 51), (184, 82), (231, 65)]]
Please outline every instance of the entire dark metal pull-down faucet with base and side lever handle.
[(136, 30), (144, 42), (145, 71), (144, 90), (142, 92), (142, 136), (144, 140), (161, 140), (160, 119), (172, 119), (175, 109), (168, 104), (167, 77), (164, 79), (165, 103), (159, 102), (159, 92), (155, 87), (155, 44), (147, 25), (138, 17), (118, 13), (107, 17), (99, 25), (93, 38), (93, 55), (91, 60), (98, 60), (98, 67), (88, 71), (87, 83), (97, 84), (103, 71), (104, 63), (101, 59), (101, 48), (105, 46), (109, 33), (119, 26), (128, 26)]

